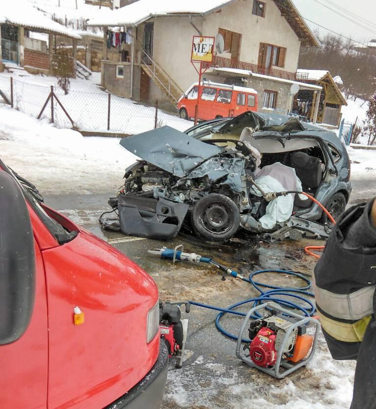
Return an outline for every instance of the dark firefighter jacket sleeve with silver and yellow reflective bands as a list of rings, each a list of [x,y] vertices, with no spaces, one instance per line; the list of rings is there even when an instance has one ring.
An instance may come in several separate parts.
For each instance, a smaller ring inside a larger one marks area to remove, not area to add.
[[[345,248],[342,243],[364,206],[338,220],[315,268],[315,299],[329,350],[336,359],[357,354],[374,314],[376,248]],[[356,357],[356,356],[354,356]]]

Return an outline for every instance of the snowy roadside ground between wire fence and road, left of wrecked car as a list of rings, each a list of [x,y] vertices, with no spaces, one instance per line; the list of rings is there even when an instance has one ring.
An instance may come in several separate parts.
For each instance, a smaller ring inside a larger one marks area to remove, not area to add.
[[[134,155],[119,138],[83,137],[0,107],[0,157],[43,194],[116,191]]]

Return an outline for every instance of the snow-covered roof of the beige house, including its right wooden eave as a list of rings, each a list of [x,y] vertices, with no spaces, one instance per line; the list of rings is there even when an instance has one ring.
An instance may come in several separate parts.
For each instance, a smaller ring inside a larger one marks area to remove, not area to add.
[[[138,26],[158,16],[205,16],[238,1],[241,0],[139,0],[89,20],[88,26]],[[295,31],[302,46],[320,46],[319,40],[305,23],[292,0],[273,1]]]

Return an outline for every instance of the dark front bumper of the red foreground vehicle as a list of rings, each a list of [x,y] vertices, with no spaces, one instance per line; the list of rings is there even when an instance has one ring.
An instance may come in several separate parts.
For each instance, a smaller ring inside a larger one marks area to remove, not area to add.
[[[128,393],[105,409],[160,409],[167,379],[168,351],[161,342],[157,362]]]

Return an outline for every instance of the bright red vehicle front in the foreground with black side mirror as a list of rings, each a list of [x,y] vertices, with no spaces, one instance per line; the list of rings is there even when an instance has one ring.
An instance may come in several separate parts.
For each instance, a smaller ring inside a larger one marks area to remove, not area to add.
[[[158,289],[0,160],[1,409],[159,409]]]

